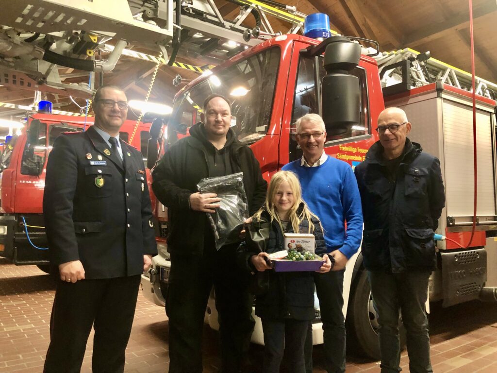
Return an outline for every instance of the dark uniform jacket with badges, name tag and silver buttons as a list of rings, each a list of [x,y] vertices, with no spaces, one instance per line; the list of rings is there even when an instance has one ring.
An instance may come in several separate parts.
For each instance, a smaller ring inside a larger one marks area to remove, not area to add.
[[[86,279],[139,275],[143,255],[157,254],[142,154],[120,144],[124,169],[93,127],[57,137],[48,157],[43,213],[50,262],[81,260]]]

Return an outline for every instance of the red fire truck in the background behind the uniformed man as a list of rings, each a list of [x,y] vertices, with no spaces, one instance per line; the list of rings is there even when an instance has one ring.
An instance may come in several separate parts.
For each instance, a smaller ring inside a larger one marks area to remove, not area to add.
[[[20,135],[13,136],[0,157],[0,256],[16,265],[48,270],[47,239],[42,215],[46,164],[52,144],[62,132],[83,131],[94,118],[36,113]],[[120,137],[128,141],[136,121],[127,120]],[[150,125],[139,123],[131,145],[146,162]]]

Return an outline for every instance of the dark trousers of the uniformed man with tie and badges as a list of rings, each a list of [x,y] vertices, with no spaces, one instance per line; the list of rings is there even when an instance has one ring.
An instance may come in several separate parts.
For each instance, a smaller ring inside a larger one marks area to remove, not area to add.
[[[139,284],[140,275],[75,283],[59,280],[44,372],[80,372],[92,325],[92,371],[124,372]]]

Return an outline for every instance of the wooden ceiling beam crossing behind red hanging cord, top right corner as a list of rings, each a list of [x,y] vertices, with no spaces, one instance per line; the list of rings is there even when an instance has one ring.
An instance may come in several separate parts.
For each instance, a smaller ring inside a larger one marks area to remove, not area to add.
[[[485,0],[482,4],[473,9],[473,20],[483,17],[490,13],[497,14],[496,0]],[[446,18],[447,19],[447,18]],[[413,47],[430,42],[435,39],[446,36],[452,31],[459,31],[469,27],[469,16],[465,11],[463,14],[457,14],[449,17],[445,22],[433,23],[431,27],[425,27],[422,30],[411,33],[402,42],[402,47]]]

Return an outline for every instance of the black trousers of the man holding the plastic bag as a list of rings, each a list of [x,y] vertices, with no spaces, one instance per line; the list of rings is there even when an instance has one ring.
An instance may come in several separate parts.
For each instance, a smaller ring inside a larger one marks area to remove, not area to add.
[[[253,297],[236,264],[235,248],[203,255],[171,256],[166,299],[169,318],[169,373],[202,372],[202,329],[214,285],[221,337],[221,372],[240,372],[246,364],[254,321]]]

